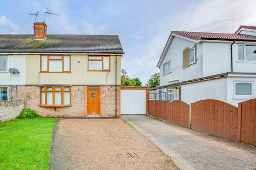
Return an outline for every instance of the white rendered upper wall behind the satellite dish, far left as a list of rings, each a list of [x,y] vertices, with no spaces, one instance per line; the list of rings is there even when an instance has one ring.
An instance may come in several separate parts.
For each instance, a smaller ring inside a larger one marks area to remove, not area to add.
[[[0,72],[1,85],[24,85],[26,80],[26,57],[25,55],[7,55],[7,72]],[[8,70],[15,68],[20,71],[19,74],[10,74]]]

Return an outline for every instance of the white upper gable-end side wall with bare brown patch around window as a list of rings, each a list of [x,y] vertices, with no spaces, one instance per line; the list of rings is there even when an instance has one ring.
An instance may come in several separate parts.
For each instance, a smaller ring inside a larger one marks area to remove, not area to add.
[[[182,66],[183,50],[194,46],[195,43],[189,40],[179,37],[172,39],[171,45],[160,66],[160,86],[203,77],[202,44],[197,44],[196,63],[184,69]],[[171,61],[171,73],[163,75],[163,65],[168,61]],[[179,79],[179,81],[168,82],[175,79]]]

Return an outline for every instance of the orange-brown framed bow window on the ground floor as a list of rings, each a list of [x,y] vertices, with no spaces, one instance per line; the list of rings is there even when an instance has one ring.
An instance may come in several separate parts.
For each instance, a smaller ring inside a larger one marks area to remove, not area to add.
[[[60,92],[59,97],[57,97],[56,92]],[[56,110],[57,107],[70,107],[71,105],[71,87],[69,86],[41,86],[40,87],[40,104],[41,107],[53,107]],[[47,104],[47,94],[49,95],[49,100],[51,100],[51,104]],[[68,100],[64,99],[64,95],[67,95]],[[43,95],[43,96],[42,96]],[[50,99],[51,98],[51,99]],[[55,98],[58,98],[59,104],[55,104]],[[43,100],[42,100],[43,99]],[[67,103],[67,104],[65,104]]]

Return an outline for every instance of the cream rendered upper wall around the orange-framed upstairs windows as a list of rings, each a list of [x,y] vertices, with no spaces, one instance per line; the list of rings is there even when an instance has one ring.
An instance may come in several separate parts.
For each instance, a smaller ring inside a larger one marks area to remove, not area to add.
[[[81,58],[78,63],[77,59]],[[71,73],[39,73],[40,55],[26,55],[26,84],[114,85],[115,55],[110,57],[110,70],[87,71],[87,55],[71,55]],[[121,84],[121,56],[117,56],[117,84]]]

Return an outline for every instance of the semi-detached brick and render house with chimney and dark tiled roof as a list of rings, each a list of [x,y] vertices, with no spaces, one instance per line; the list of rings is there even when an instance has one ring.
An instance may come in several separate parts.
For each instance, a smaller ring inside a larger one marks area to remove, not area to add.
[[[0,100],[43,116],[119,116],[123,54],[117,35],[51,35],[44,22],[34,35],[2,34]]]

